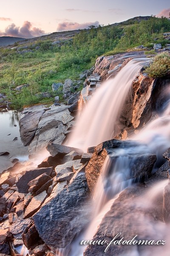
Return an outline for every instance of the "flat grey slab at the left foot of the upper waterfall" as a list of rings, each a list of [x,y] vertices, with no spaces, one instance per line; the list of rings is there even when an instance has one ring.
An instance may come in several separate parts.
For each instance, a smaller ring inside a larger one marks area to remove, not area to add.
[[[59,153],[63,154],[64,156],[66,154],[69,154],[71,151],[75,151],[79,154],[83,153],[83,151],[79,148],[71,148],[65,145],[54,144],[54,143],[48,144],[47,150],[50,152],[52,157],[55,157]]]

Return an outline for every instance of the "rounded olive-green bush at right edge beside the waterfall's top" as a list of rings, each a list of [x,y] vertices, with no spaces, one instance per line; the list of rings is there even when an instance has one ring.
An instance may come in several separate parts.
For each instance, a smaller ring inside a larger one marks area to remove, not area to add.
[[[147,67],[145,72],[150,77],[163,77],[170,73],[170,54],[162,52],[156,55],[150,67]]]

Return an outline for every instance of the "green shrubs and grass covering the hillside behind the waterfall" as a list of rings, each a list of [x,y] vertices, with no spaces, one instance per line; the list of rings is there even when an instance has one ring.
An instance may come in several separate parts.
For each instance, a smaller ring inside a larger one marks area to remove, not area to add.
[[[51,91],[52,83],[79,79],[79,74],[92,67],[103,54],[124,52],[141,44],[151,50],[146,54],[153,54],[153,43],[164,46],[167,40],[163,32],[169,31],[170,20],[151,17],[119,26],[92,26],[88,31],[81,30],[72,40],[60,40],[60,44],[52,44],[49,36],[49,40],[34,44],[27,41],[23,48],[17,44],[14,49],[0,48],[0,92],[6,94],[13,108],[53,102],[53,99],[36,96],[40,92],[59,95],[62,100],[61,90]],[[29,86],[15,90],[21,84]]]

